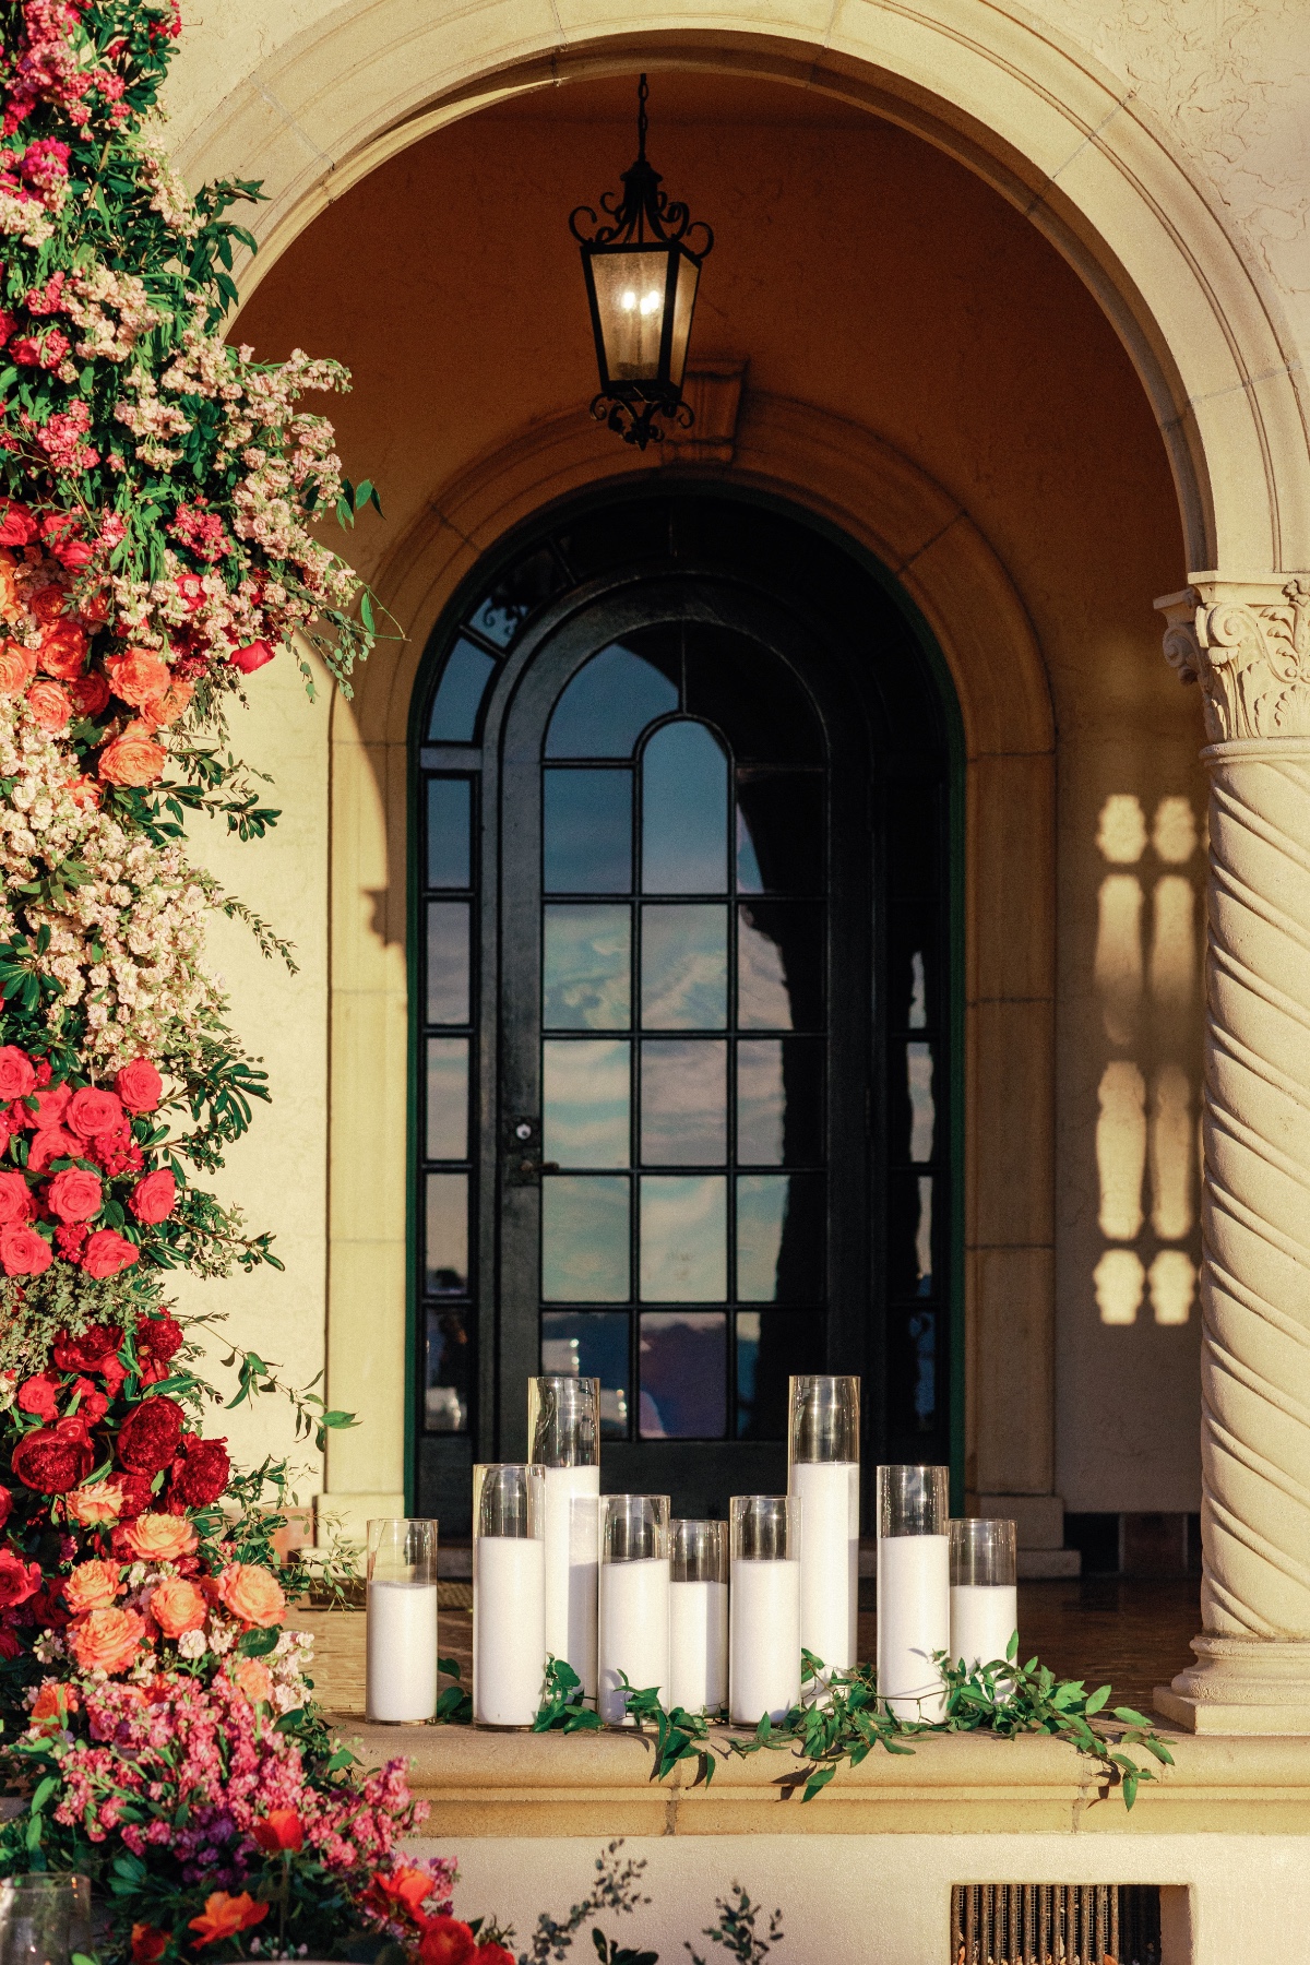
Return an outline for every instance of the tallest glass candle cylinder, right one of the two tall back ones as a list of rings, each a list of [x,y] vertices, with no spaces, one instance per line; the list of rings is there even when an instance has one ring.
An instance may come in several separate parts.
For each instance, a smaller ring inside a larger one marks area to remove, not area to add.
[[[825,1672],[856,1662],[860,1607],[860,1381],[788,1381],[788,1491],[801,1503],[801,1645]]]

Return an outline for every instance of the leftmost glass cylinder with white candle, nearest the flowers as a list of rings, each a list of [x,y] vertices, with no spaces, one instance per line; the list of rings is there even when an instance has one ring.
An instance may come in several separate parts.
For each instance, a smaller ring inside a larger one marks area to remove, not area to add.
[[[365,1713],[383,1725],[436,1712],[436,1521],[367,1525]]]

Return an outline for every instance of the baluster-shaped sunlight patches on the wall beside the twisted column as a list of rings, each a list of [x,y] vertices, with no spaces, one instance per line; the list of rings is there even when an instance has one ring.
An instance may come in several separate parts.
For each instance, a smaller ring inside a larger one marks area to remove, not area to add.
[[[1196,1265],[1198,825],[1190,800],[1161,798],[1151,825],[1131,792],[1100,812],[1102,876],[1096,990],[1110,1057],[1100,1075],[1096,1305],[1104,1324],[1133,1324],[1149,1297],[1157,1324],[1186,1324]],[[1127,869],[1133,869],[1131,872]],[[1149,1199],[1149,1210],[1147,1210]]]

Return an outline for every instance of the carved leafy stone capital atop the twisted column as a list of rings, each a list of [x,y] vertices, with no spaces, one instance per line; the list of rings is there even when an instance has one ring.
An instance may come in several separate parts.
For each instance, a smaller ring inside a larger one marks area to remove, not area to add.
[[[1155,605],[1165,660],[1200,684],[1210,743],[1310,737],[1310,574],[1192,574]]]

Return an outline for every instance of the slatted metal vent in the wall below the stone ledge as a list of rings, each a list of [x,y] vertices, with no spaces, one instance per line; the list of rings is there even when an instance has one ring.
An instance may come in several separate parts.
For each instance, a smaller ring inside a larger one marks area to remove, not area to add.
[[[951,1965],[1161,1965],[1153,1882],[956,1882]]]

